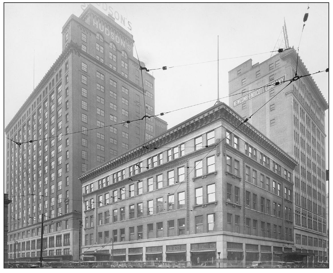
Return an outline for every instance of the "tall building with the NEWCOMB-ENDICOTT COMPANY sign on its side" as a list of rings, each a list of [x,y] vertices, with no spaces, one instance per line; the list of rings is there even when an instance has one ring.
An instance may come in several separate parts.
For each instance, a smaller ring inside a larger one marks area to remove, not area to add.
[[[229,71],[229,105],[249,117],[295,76],[297,53],[278,53],[262,63],[252,59]],[[312,71],[311,71],[312,72]],[[299,58],[298,75],[308,75]],[[280,81],[278,86],[264,87]],[[292,82],[250,120],[262,134],[277,143],[297,161],[294,178],[295,260],[309,265],[327,260],[328,211],[325,178],[325,111],[328,104],[311,76]]]

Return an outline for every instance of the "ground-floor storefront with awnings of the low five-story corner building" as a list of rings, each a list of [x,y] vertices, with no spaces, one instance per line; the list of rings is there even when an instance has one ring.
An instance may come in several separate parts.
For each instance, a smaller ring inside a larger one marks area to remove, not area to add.
[[[187,261],[193,267],[248,267],[253,261],[273,266],[284,261],[284,253],[290,251],[285,247],[290,242],[255,236],[229,234],[209,234],[178,236],[154,240],[138,240],[135,242],[119,242],[112,246],[105,245],[110,260],[128,262]],[[88,249],[90,246],[87,246]],[[94,251],[103,245],[90,247]],[[82,249],[84,253],[85,247]],[[98,251],[98,250],[97,250]],[[218,255],[218,252],[220,252]]]

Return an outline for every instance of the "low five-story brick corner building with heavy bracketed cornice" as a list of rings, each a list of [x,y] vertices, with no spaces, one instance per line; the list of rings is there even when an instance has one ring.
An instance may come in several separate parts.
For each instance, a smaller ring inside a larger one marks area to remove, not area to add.
[[[79,178],[86,258],[245,267],[293,244],[295,160],[225,104]],[[88,256],[88,257],[87,257]]]

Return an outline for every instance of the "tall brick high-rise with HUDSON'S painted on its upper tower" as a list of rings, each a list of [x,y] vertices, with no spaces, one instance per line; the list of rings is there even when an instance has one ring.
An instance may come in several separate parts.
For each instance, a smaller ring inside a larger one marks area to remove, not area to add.
[[[5,129],[10,259],[39,260],[44,215],[43,257],[78,260],[77,177],[143,143],[145,127],[147,140],[167,126],[119,124],[154,115],[155,91],[147,72],[142,86],[132,35],[114,18],[89,5],[62,36],[62,54]]]

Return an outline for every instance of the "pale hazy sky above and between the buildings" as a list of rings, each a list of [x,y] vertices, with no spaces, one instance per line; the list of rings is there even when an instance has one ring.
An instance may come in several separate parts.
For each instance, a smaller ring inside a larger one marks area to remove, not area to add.
[[[71,14],[79,17],[87,5],[4,5],[4,127],[61,54],[61,31],[67,19]],[[148,69],[178,66],[151,72],[155,77],[156,114],[217,98],[217,36],[219,59],[247,56],[219,61],[219,94],[227,96],[228,71],[250,58],[253,64],[268,59],[269,51],[281,38],[284,18],[289,45],[297,48],[300,42],[299,55],[308,71],[328,68],[327,3],[310,3],[309,9],[307,3],[93,5],[105,14],[112,11],[130,21],[139,60]],[[306,12],[309,16],[301,36]],[[206,63],[187,65],[199,62]],[[328,73],[318,73],[313,79],[329,103]],[[228,98],[221,101],[228,105]],[[171,128],[213,104],[175,111],[163,119]],[[328,168],[328,110],[325,114]]]

